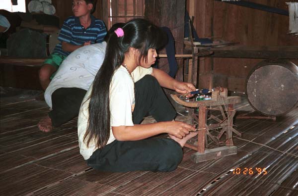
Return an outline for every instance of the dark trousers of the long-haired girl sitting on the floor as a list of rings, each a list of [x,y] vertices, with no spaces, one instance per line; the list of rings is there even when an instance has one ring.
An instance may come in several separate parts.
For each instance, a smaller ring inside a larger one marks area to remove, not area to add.
[[[157,80],[147,75],[135,83],[136,105],[133,121],[139,124],[147,115],[157,121],[173,120],[176,111],[166,98]],[[100,171],[173,171],[182,160],[182,148],[169,138],[139,141],[117,141],[97,149],[87,164]]]

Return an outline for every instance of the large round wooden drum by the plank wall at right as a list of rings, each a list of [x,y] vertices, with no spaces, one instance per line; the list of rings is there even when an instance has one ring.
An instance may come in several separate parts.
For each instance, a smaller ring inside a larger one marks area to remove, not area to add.
[[[246,80],[250,105],[265,115],[279,116],[298,106],[298,66],[288,60],[258,63]]]

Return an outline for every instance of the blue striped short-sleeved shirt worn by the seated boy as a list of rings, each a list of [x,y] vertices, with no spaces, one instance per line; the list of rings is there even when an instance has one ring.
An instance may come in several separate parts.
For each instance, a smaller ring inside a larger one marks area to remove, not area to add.
[[[72,45],[83,45],[85,42],[91,41],[91,44],[101,43],[107,34],[107,30],[102,20],[96,19],[90,15],[91,24],[85,29],[79,22],[79,18],[71,16],[67,18],[61,28],[58,40],[61,41],[53,52],[58,52],[68,56],[71,52],[62,49],[62,42],[67,42]]]

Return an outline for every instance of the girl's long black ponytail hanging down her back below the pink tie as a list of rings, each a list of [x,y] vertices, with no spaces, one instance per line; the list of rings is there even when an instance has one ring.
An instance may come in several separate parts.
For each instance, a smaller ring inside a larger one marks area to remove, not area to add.
[[[96,147],[104,147],[110,137],[110,83],[115,70],[124,60],[116,34],[110,36],[105,58],[93,81],[89,102],[89,119],[84,141],[87,146],[91,140]]]

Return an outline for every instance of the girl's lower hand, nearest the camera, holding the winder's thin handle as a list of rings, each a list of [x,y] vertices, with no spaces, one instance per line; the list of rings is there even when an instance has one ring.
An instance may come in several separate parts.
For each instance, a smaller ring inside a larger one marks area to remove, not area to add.
[[[166,122],[165,132],[175,136],[176,138],[182,139],[187,134],[189,134],[190,131],[195,131],[196,128],[192,125],[189,125],[187,123],[181,122],[181,121],[169,121]]]

